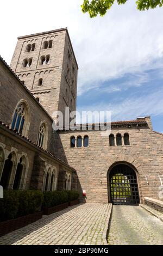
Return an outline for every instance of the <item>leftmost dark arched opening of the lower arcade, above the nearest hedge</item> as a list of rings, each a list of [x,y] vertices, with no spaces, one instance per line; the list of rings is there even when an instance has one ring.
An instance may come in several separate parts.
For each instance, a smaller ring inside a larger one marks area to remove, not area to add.
[[[5,160],[1,181],[0,181],[0,185],[3,186],[4,189],[8,188],[13,165],[14,164],[12,162],[12,154],[10,153],[8,156],[8,159]]]

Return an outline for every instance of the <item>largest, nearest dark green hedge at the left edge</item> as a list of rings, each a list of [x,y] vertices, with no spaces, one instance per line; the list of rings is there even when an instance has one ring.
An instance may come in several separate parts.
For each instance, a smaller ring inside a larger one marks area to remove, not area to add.
[[[4,190],[0,200],[0,222],[34,214],[41,210],[43,194],[40,191]]]

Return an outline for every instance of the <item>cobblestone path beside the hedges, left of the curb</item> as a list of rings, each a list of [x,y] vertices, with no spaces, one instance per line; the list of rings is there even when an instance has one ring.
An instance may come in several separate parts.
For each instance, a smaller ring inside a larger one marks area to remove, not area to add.
[[[0,237],[0,245],[107,245],[111,205],[80,204]]]

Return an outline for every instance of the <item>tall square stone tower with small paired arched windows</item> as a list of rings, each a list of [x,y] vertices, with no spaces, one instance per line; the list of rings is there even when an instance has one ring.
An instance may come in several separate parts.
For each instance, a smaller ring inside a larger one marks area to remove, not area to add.
[[[49,115],[76,111],[78,64],[67,28],[18,37],[10,66]]]

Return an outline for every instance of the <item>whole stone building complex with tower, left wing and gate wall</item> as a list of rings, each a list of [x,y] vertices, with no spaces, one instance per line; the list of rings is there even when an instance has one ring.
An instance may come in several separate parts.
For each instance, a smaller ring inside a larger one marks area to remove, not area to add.
[[[159,198],[163,134],[150,117],[112,122],[107,137],[95,124],[53,131],[55,111],[76,110],[77,73],[66,28],[19,37],[11,68],[0,59],[0,184],[78,190],[92,203]]]

